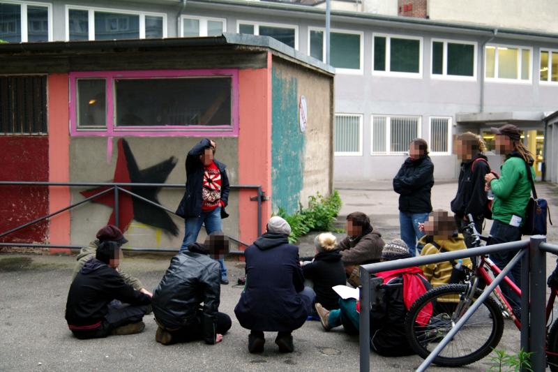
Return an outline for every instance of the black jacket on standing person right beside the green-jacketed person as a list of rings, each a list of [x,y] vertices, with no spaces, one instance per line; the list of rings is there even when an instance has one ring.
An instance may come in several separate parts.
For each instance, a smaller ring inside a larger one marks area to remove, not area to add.
[[[476,158],[461,163],[458,193],[451,200],[451,211],[459,218],[469,213],[474,217],[484,214],[487,202],[484,177],[490,172],[490,166],[485,161],[476,161],[478,158],[486,160],[486,156],[479,154]],[[472,167],[474,161],[476,162]]]

